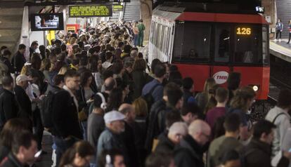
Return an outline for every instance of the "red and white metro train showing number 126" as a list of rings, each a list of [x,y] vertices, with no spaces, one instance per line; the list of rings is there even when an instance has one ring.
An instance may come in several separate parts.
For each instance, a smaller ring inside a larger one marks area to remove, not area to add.
[[[233,4],[175,3],[153,11],[148,62],[158,58],[189,76],[195,91],[214,77],[226,86],[228,74],[240,72],[241,86],[252,86],[257,100],[269,93],[269,23],[255,10]]]

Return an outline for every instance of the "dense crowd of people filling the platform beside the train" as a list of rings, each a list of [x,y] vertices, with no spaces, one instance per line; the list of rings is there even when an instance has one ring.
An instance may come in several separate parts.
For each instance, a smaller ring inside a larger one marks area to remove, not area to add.
[[[194,94],[195,81],[175,65],[148,67],[135,47],[141,22],[33,41],[27,57],[24,44],[12,59],[1,47],[0,166],[33,166],[46,154],[44,131],[52,166],[291,166],[289,90],[252,122],[256,92],[240,86],[240,73],[227,88],[209,78]]]

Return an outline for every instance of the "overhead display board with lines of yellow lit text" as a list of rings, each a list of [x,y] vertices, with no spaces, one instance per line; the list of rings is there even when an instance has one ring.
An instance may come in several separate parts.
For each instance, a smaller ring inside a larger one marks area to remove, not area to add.
[[[70,18],[108,17],[112,16],[112,6],[69,6]]]

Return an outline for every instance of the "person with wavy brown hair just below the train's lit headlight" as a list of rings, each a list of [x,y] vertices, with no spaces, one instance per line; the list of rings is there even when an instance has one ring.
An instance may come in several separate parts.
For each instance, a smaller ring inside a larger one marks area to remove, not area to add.
[[[240,127],[240,140],[243,141],[249,139],[251,135],[252,123],[250,123],[247,114],[255,98],[256,93],[250,86],[240,88],[235,91],[235,96],[231,100],[231,107],[228,109],[228,113],[235,113],[240,116],[243,124]]]

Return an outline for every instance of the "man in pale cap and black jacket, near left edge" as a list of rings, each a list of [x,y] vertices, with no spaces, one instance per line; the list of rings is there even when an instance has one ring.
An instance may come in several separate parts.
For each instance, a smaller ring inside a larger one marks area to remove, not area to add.
[[[16,101],[18,102],[19,112],[18,117],[27,120],[27,123],[32,123],[32,102],[25,93],[28,86],[28,81],[31,81],[26,75],[18,75],[16,77],[16,86],[14,88]],[[31,124],[32,126],[32,124]]]

